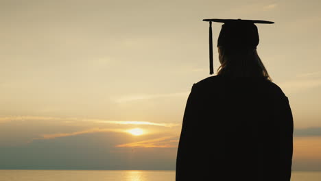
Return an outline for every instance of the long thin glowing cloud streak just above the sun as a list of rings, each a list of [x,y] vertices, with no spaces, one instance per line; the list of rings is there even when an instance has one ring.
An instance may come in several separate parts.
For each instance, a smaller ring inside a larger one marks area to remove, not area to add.
[[[75,121],[89,121],[93,123],[108,123],[108,124],[119,124],[119,125],[155,125],[161,127],[174,127],[179,126],[177,123],[154,123],[149,121],[115,121],[107,119],[80,119],[75,117],[32,117],[32,116],[23,116],[23,117],[0,117],[0,123],[8,121],[62,121],[63,123],[73,123]]]

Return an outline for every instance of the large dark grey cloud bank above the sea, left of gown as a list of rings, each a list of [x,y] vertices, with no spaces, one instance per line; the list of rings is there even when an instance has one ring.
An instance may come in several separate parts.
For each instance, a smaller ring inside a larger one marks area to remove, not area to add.
[[[0,169],[175,169],[176,148],[115,147],[132,139],[121,132],[95,132],[0,146]]]

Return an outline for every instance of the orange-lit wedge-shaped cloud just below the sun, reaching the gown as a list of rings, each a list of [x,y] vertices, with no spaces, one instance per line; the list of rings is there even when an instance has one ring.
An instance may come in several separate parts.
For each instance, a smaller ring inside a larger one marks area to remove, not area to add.
[[[162,138],[150,139],[145,141],[138,141],[134,143],[125,143],[117,145],[116,147],[158,147],[158,148],[168,148],[168,147],[177,147],[178,138],[173,136],[166,136]]]

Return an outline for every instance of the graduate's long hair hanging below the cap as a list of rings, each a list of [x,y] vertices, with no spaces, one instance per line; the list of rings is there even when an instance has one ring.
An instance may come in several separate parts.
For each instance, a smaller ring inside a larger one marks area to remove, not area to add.
[[[217,47],[221,66],[217,69],[217,75],[228,77],[263,77],[272,81],[265,69],[257,49],[240,48],[228,49]]]

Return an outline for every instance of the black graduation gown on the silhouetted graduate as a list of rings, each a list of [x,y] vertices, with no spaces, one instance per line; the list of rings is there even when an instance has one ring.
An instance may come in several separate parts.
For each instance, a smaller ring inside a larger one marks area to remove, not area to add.
[[[292,152],[292,111],[276,84],[219,75],[193,84],[176,181],[289,181]]]

